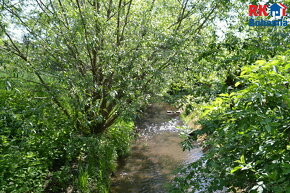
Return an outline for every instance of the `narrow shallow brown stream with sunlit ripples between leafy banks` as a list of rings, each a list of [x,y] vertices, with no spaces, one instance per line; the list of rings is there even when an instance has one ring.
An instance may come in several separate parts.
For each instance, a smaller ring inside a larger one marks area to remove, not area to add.
[[[139,137],[113,177],[111,193],[165,193],[174,170],[201,157],[200,148],[182,151],[179,133],[183,123],[178,113],[167,111],[176,109],[153,104],[137,121]]]

